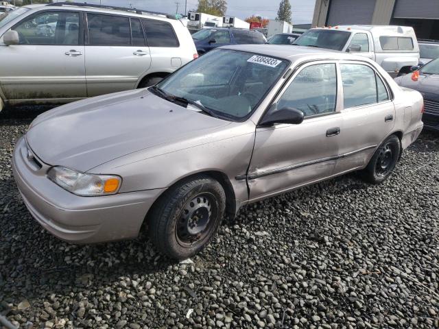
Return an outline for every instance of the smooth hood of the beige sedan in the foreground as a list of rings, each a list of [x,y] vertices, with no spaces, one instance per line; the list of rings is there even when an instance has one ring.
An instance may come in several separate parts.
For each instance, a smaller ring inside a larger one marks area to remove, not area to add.
[[[135,151],[209,134],[230,122],[183,108],[145,89],[70,103],[40,114],[26,133],[50,165],[88,171]]]

